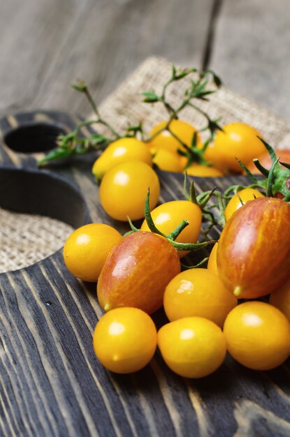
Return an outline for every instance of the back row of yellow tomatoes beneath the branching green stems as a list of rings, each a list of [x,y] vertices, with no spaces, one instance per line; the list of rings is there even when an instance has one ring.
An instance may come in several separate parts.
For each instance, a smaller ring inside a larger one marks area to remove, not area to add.
[[[173,119],[169,124],[161,121],[152,128],[147,142],[136,138],[122,138],[117,140],[103,152],[93,167],[94,175],[101,179],[115,164],[124,161],[138,160],[152,165],[156,164],[161,170],[183,172],[187,165],[187,158],[178,153],[186,152],[184,145],[191,147],[192,138],[196,135],[196,147],[202,148],[201,136],[196,128],[186,121]],[[164,130],[162,130],[164,129]],[[187,168],[187,173],[193,176],[223,176],[225,173],[240,173],[242,169],[236,158],[247,165],[253,158],[264,154],[265,148],[259,140],[261,133],[252,126],[236,122],[223,126],[218,131],[213,142],[205,151],[205,159],[210,166],[193,163]],[[251,147],[248,147],[249,143]]]

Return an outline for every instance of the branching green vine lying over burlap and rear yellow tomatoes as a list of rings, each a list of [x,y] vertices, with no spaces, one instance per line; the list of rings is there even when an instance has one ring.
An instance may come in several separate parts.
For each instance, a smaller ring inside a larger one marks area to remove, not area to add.
[[[168,102],[168,87],[175,82],[182,82],[185,77],[190,77],[190,85],[189,87],[187,86],[184,88],[184,99],[175,108],[171,103]],[[143,95],[143,103],[162,103],[168,112],[168,120],[166,121],[166,124],[159,131],[150,137],[145,138],[142,124],[128,126],[123,135],[118,133],[115,128],[101,116],[87,84],[83,80],[78,80],[77,84],[72,84],[71,87],[85,95],[89,105],[92,108],[94,117],[92,119],[81,121],[80,124],[78,124],[78,126],[71,131],[71,133],[68,133],[67,135],[59,135],[57,138],[57,148],[50,151],[44,158],[38,161],[38,166],[43,166],[51,161],[56,161],[61,158],[73,156],[75,154],[79,155],[86,154],[90,151],[102,151],[106,149],[111,142],[118,140],[119,138],[131,138],[136,137],[136,135],[140,135],[140,138],[143,141],[150,142],[162,131],[168,131],[178,142],[180,142],[182,149],[180,149],[178,152],[187,157],[187,167],[194,162],[201,163],[203,165],[211,165],[204,158],[204,153],[212,141],[215,131],[222,130],[222,128],[218,124],[218,119],[211,119],[208,114],[201,110],[201,108],[198,108],[194,102],[196,100],[208,101],[208,96],[215,93],[215,91],[217,91],[221,85],[221,80],[211,70],[197,71],[196,68],[175,68],[175,66],[172,66],[171,77],[164,84],[161,94],[157,94],[155,91],[143,91],[141,93]],[[209,87],[211,87],[211,89],[209,89]],[[173,119],[178,119],[180,112],[187,107],[199,112],[205,119],[205,126],[200,129],[200,132],[208,131],[209,135],[208,139],[203,143],[203,147],[197,147],[196,145],[197,133],[193,135],[191,146],[189,147],[182,142],[182,140],[180,140],[180,138],[178,138],[171,129],[171,121],[173,121]],[[105,126],[110,135],[106,136],[97,132],[90,133],[90,135],[87,137],[82,135],[82,128],[93,125],[96,126],[98,124]]]

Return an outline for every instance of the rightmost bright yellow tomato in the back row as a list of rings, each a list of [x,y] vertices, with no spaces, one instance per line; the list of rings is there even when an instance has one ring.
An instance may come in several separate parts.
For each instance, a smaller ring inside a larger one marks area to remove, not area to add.
[[[216,154],[224,161],[226,168],[241,173],[242,167],[235,158],[246,164],[265,151],[258,136],[261,137],[261,133],[245,123],[227,124],[215,136]]]

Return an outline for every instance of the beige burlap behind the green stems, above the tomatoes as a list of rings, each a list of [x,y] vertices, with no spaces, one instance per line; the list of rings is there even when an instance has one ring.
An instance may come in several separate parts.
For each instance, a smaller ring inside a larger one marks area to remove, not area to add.
[[[145,131],[149,131],[154,124],[167,119],[168,113],[161,103],[154,103],[154,105],[141,103],[143,96],[140,92],[154,90],[159,93],[170,76],[171,63],[166,59],[157,57],[147,59],[101,103],[100,111],[103,118],[120,131],[129,123],[136,124],[139,121],[143,122]],[[174,104],[182,101],[184,87],[186,82],[185,84],[184,81],[175,82],[168,88],[168,99]],[[222,124],[243,121],[258,129],[273,147],[290,147],[290,124],[229,89],[222,87],[210,96],[209,102],[199,101],[195,104],[213,119],[221,117]],[[185,108],[180,112],[180,118],[189,121],[197,128],[205,126],[203,116],[192,108]]]

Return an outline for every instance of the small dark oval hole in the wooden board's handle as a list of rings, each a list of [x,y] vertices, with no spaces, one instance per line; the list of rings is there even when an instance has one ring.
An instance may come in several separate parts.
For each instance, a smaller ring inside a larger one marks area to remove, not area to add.
[[[22,154],[45,152],[57,147],[57,137],[66,132],[59,126],[34,122],[18,126],[4,135],[9,149]]]

